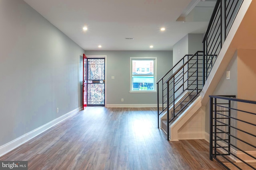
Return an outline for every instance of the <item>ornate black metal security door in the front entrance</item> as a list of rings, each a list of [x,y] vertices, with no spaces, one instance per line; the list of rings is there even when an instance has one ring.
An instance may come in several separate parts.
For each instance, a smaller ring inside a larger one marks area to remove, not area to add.
[[[105,59],[87,59],[87,106],[105,106]]]

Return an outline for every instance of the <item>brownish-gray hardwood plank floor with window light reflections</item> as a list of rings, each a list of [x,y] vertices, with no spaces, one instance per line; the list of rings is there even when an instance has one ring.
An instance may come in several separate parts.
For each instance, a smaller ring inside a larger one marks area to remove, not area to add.
[[[29,170],[206,170],[204,140],[168,142],[156,108],[87,107],[0,157],[27,160]]]

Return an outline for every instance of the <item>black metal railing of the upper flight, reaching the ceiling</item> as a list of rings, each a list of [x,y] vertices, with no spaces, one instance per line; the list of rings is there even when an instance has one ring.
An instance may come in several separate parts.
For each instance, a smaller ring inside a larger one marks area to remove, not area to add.
[[[217,0],[204,36],[204,81],[210,74],[220,49],[243,0]]]

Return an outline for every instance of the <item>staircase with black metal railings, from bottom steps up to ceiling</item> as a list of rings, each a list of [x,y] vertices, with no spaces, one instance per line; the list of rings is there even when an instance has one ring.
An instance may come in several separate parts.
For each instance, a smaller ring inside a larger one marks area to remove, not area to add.
[[[185,55],[157,82],[158,128],[167,133],[167,140],[169,127],[200,96],[242,2],[217,0],[204,36],[204,51]]]

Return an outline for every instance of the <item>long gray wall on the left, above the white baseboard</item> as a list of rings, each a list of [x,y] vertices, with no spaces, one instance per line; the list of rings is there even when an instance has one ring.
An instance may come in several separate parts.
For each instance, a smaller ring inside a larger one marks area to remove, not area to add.
[[[22,0],[0,0],[0,23],[1,146],[82,106],[84,50]]]

